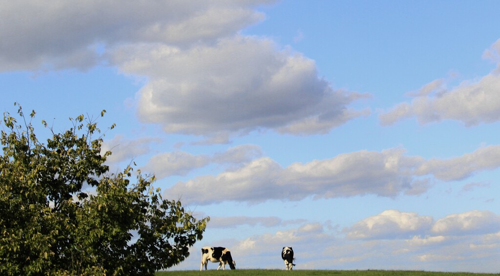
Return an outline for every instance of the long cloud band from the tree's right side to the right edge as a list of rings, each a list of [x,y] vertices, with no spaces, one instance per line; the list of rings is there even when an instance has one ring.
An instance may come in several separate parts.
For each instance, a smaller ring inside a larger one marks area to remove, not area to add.
[[[500,145],[485,146],[448,159],[425,160],[404,153],[402,148],[362,150],[287,167],[269,157],[260,157],[237,169],[177,182],[165,189],[164,195],[181,197],[186,204],[202,205],[222,201],[300,200],[308,196],[335,198],[375,194],[395,197],[401,193],[425,192],[429,179],[461,180],[500,166]],[[213,186],[222,188],[215,190]]]

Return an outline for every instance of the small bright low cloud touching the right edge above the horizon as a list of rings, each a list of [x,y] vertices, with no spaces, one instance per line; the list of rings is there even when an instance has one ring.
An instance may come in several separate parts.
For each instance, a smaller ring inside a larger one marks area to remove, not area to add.
[[[484,234],[499,230],[500,215],[479,210],[447,215],[438,219],[431,228],[433,233],[447,235]]]

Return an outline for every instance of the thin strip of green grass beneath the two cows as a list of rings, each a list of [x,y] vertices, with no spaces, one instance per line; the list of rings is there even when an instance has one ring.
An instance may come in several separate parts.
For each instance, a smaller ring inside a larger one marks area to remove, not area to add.
[[[159,271],[156,276],[323,276],[323,275],[343,275],[343,276],[486,276],[498,275],[490,273],[469,273],[469,272],[429,272],[429,271],[404,271],[404,270],[278,270],[278,269],[236,269],[236,270],[183,270],[183,271]]]

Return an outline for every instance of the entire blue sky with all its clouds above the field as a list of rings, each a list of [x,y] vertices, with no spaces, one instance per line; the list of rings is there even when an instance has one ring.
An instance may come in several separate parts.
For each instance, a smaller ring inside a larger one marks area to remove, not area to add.
[[[209,216],[171,269],[198,269],[202,246],[284,269],[291,246],[294,269],[497,273],[498,10],[1,0],[1,109],[34,109],[39,135],[96,118],[110,172],[134,162]]]

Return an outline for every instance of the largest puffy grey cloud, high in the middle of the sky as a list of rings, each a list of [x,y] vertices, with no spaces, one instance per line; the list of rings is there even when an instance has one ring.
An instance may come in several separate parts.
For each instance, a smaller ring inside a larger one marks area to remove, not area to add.
[[[186,50],[119,47],[111,60],[126,73],[148,76],[138,93],[138,116],[166,132],[325,133],[369,113],[347,107],[367,95],[332,89],[313,60],[277,47],[269,39],[236,35]]]

